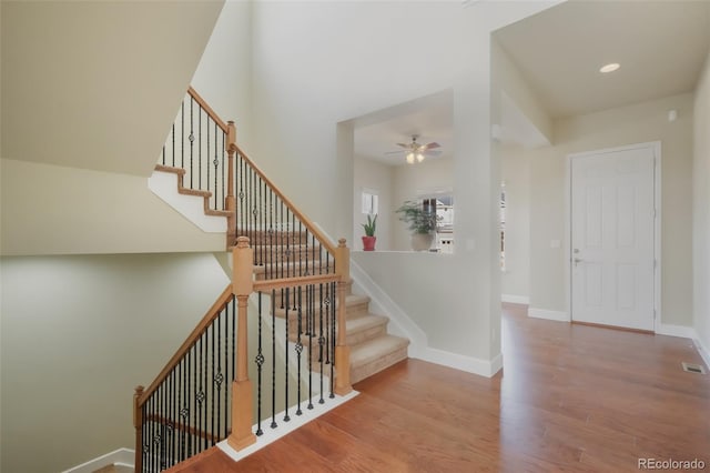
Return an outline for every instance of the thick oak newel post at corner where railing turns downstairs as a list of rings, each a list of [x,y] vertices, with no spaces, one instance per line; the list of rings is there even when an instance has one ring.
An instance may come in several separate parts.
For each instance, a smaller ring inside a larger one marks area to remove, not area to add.
[[[236,379],[232,382],[232,433],[227,443],[234,450],[242,450],[254,442],[256,435],[252,432],[253,402],[252,382],[248,379],[247,365],[247,326],[246,312],[248,295],[254,290],[254,250],[248,246],[248,239],[240,236],[232,250],[232,292],[236,296]]]

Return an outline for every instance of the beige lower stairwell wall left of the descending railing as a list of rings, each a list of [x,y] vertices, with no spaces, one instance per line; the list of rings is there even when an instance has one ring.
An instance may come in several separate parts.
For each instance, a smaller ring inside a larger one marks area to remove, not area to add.
[[[132,395],[227,284],[209,253],[0,260],[3,472],[133,447]]]

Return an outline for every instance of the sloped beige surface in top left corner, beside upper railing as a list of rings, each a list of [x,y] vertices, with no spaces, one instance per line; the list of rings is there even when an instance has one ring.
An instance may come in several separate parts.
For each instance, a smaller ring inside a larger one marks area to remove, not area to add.
[[[0,158],[149,177],[224,1],[3,1]]]

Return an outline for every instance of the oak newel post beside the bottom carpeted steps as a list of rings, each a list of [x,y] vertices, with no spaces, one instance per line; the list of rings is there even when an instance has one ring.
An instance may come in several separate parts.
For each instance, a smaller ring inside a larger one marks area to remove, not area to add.
[[[345,395],[353,391],[351,385],[351,348],[347,346],[345,319],[347,308],[345,298],[351,281],[351,250],[344,238],[337,242],[335,254],[335,272],[339,275],[337,283],[337,340],[335,345],[335,394]]]

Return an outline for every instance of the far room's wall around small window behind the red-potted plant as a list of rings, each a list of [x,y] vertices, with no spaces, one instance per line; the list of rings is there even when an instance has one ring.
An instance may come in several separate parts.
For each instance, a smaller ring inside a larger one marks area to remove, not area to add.
[[[377,251],[392,250],[392,213],[395,204],[392,200],[392,177],[394,168],[371,159],[357,157],[353,160],[353,240],[352,249],[362,250],[365,234],[362,223],[367,222],[363,214],[362,192],[364,189],[376,190],[379,202],[375,236]]]

